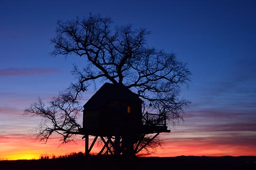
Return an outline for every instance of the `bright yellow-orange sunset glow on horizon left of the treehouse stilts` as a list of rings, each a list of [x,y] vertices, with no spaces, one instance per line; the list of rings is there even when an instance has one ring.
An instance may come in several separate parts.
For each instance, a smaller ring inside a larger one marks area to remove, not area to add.
[[[46,144],[42,144],[26,135],[0,138],[0,161],[40,159],[41,156],[52,158],[74,152],[84,152],[83,140],[78,139],[75,144],[60,145],[60,143],[59,138],[51,138]]]

